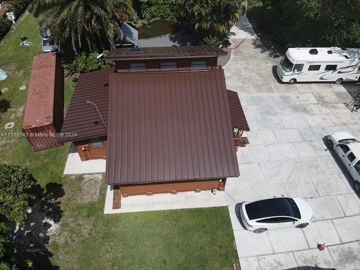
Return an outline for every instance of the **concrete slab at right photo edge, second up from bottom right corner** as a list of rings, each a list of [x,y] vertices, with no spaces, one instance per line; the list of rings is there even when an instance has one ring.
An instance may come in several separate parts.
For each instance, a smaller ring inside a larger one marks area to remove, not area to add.
[[[342,242],[360,240],[359,215],[333,219],[332,222],[334,223]]]

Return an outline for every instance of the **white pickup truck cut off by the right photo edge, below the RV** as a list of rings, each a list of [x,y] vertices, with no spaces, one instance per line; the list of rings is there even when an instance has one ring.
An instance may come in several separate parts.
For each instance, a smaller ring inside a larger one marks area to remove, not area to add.
[[[354,188],[360,192],[360,141],[346,131],[328,135],[327,146],[333,149],[337,158],[354,179]]]

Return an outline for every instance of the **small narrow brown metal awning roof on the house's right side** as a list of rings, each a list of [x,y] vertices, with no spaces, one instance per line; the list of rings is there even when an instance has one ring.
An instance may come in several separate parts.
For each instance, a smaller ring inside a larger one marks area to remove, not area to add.
[[[243,112],[237,92],[227,90],[227,97],[230,107],[231,125],[232,127],[249,131],[250,128],[247,124],[245,114]]]

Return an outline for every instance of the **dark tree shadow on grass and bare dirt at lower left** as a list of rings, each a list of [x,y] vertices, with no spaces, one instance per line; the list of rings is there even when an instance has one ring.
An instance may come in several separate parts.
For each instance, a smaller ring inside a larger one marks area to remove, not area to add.
[[[36,199],[26,223],[21,227],[10,224],[12,244],[19,256],[33,261],[35,269],[59,269],[51,263],[52,253],[46,245],[58,229],[62,217],[61,202],[58,200],[64,195],[62,184],[50,182],[45,189],[37,184],[31,192]]]

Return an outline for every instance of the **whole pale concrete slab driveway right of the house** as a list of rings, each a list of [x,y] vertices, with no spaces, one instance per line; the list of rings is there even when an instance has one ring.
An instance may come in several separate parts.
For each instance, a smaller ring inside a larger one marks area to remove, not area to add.
[[[227,88],[238,92],[250,131],[239,148],[240,176],[226,183],[241,270],[312,266],[360,268],[360,199],[324,137],[347,130],[360,138],[360,113],[344,103],[354,83],[279,83],[279,58],[254,34],[246,17],[231,29],[237,44],[224,66]],[[283,228],[255,234],[238,216],[242,201],[273,196],[305,198],[314,221],[304,229]],[[324,250],[316,248],[325,243]],[[302,269],[302,267],[301,267]]]

